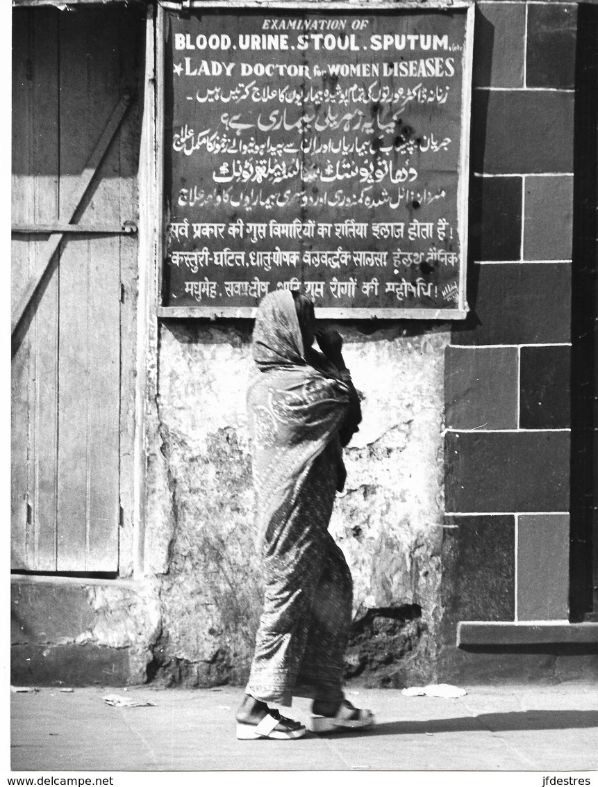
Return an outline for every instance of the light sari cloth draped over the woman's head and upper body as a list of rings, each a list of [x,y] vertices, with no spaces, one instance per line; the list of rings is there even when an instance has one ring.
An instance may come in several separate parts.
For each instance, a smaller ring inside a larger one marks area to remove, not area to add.
[[[331,443],[342,464],[338,430],[350,397],[323,356],[325,368],[306,361],[289,290],[276,290],[259,305],[252,353],[256,371],[248,386],[248,416],[255,526],[263,545],[270,523],[292,510],[315,458]]]

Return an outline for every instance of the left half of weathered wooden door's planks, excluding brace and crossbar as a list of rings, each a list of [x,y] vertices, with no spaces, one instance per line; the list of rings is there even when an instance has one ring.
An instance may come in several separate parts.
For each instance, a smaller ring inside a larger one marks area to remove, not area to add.
[[[56,10],[15,13],[13,35],[13,220],[51,221],[57,216],[58,190]],[[38,271],[43,247],[43,238],[13,241],[13,297],[20,296],[19,286]],[[35,316],[13,358],[12,563],[16,569],[56,567],[56,391],[54,269],[37,296]],[[18,532],[23,523],[24,538]]]

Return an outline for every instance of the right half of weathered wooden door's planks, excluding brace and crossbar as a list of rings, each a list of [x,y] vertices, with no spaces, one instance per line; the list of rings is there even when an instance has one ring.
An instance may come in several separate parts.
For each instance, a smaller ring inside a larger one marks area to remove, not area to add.
[[[61,50],[61,212],[76,192],[89,141],[105,124],[120,89],[119,53],[106,30],[110,15],[97,13],[86,13],[85,24],[68,14],[61,20],[61,35],[69,42],[68,50]],[[105,35],[98,37],[100,20]],[[77,220],[119,219],[119,150],[114,145]],[[69,239],[61,260],[62,571],[81,570],[82,564],[85,571],[118,568],[119,297],[118,238]],[[67,419],[68,412],[75,417]]]

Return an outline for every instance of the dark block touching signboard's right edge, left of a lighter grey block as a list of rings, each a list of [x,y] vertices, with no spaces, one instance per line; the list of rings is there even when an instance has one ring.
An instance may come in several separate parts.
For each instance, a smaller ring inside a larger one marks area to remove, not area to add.
[[[520,260],[522,178],[473,177],[469,194],[469,256]]]

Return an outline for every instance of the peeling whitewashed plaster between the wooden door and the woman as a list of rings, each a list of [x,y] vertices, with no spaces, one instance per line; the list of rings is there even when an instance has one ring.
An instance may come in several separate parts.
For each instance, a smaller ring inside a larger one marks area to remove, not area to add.
[[[189,685],[237,679],[259,615],[244,409],[249,341],[246,331],[206,323],[165,324],[160,334],[162,460],[150,497],[158,509],[150,508],[148,527],[155,545],[165,546],[161,530],[169,543],[153,668]],[[164,489],[168,512],[160,506]],[[150,563],[161,558],[147,555]]]

